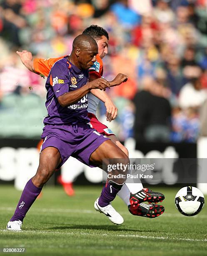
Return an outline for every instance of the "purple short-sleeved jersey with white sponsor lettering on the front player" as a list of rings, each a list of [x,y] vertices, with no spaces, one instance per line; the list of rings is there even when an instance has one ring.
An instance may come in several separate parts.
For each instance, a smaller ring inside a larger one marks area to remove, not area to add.
[[[59,96],[77,90],[88,82],[89,71],[80,70],[68,61],[67,57],[56,61],[47,77],[45,106],[48,115],[43,120],[44,125],[89,123],[90,121],[87,117],[87,95],[67,107],[62,107],[57,100]]]

